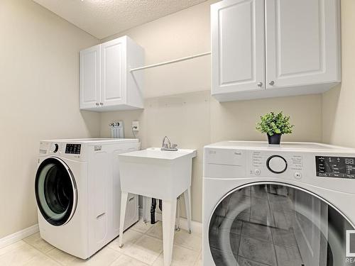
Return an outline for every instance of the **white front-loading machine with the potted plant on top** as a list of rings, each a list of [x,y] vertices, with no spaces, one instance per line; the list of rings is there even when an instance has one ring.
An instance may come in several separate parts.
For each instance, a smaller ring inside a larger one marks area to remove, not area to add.
[[[355,265],[355,149],[204,147],[204,266]]]

